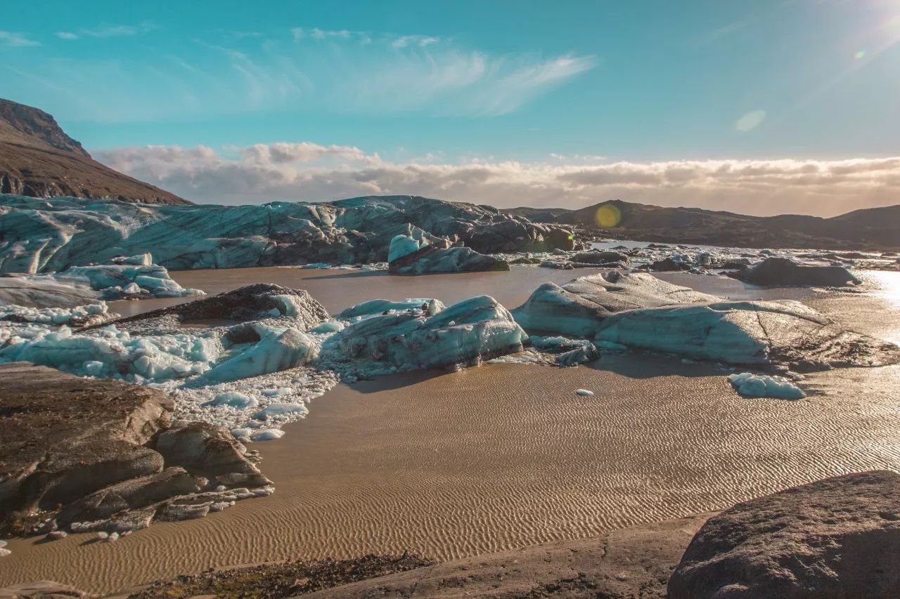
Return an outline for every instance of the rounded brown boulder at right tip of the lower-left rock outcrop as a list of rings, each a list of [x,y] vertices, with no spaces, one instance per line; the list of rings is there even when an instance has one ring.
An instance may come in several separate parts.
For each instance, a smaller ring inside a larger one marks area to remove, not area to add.
[[[219,426],[177,422],[158,434],[153,448],[166,466],[181,466],[223,485],[263,487],[272,482],[247,460],[246,449],[229,430]]]

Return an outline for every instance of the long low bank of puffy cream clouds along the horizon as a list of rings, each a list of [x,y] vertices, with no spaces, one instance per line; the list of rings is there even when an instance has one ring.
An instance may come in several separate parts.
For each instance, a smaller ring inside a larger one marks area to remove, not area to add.
[[[540,162],[436,156],[392,161],[352,146],[309,142],[246,148],[119,148],[104,163],[194,201],[322,201],[411,193],[500,207],[581,208],[620,198],[747,214],[831,216],[896,204],[900,156],[845,160],[607,162],[548,156]]]

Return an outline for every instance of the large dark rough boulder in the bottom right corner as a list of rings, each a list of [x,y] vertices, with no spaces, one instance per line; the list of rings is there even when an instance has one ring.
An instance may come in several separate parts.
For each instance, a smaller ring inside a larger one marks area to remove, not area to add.
[[[738,504],[703,525],[670,599],[900,596],[900,476],[826,478]]]

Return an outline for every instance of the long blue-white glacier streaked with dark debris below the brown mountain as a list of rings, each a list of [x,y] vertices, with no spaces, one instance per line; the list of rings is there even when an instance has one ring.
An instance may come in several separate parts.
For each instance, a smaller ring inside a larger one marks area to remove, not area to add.
[[[167,206],[0,195],[0,273],[46,273],[152,252],[170,269],[385,262],[393,237],[482,254],[572,249],[572,231],[417,196]]]

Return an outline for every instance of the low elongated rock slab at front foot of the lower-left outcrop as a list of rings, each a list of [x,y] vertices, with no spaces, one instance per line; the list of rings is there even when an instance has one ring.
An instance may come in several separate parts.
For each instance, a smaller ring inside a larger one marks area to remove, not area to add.
[[[166,499],[197,493],[206,486],[206,480],[188,474],[183,468],[166,468],[157,474],[130,478],[103,487],[63,508],[58,523],[67,526],[73,522],[108,520],[139,507],[155,505]]]

